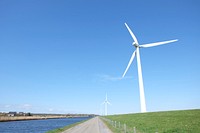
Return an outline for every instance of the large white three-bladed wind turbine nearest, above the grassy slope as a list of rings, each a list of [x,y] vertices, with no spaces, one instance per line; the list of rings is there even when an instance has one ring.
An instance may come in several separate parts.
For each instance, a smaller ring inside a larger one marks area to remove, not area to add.
[[[148,48],[148,47],[153,47],[153,46],[158,46],[158,45],[163,45],[163,44],[167,44],[167,43],[171,43],[171,42],[175,42],[178,41],[176,40],[170,40],[170,41],[164,41],[164,42],[156,42],[156,43],[150,43],[150,44],[144,44],[144,45],[139,45],[135,35],[133,34],[133,32],[131,31],[131,29],[128,27],[128,25],[125,23],[126,28],[128,29],[129,33],[131,34],[134,42],[133,42],[133,46],[135,46],[136,50],[133,52],[131,59],[128,63],[128,66],[126,67],[126,70],[123,74],[122,77],[125,76],[127,70],[129,69],[135,55],[137,58],[137,66],[138,66],[138,80],[139,80],[139,88],[140,88],[140,106],[141,106],[141,112],[146,112],[146,103],[145,103],[145,95],[144,95],[144,85],[143,85],[143,79],[142,79],[142,68],[141,68],[141,62],[140,62],[140,48]]]

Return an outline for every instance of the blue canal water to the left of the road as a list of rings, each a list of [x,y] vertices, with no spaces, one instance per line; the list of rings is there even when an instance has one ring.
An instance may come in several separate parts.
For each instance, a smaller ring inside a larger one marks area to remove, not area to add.
[[[89,117],[0,122],[0,133],[45,133]]]

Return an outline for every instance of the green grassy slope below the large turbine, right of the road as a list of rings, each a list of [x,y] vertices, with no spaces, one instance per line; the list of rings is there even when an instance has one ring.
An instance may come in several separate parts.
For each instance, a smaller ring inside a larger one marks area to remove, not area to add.
[[[125,123],[131,129],[129,132],[133,132],[135,127],[137,133],[200,133],[199,109],[112,115],[105,118],[120,122],[121,125]],[[123,129],[113,130],[121,133]]]

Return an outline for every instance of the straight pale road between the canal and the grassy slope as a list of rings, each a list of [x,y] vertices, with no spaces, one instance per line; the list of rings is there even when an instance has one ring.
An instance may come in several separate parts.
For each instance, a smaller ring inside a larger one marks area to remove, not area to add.
[[[63,133],[112,133],[99,117],[92,118]]]

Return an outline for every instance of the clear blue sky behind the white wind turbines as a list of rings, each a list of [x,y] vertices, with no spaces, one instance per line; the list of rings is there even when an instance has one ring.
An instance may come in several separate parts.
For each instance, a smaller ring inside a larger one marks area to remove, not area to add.
[[[198,0],[1,0],[0,111],[140,112],[136,60],[124,23],[140,44],[147,111],[200,108]]]

